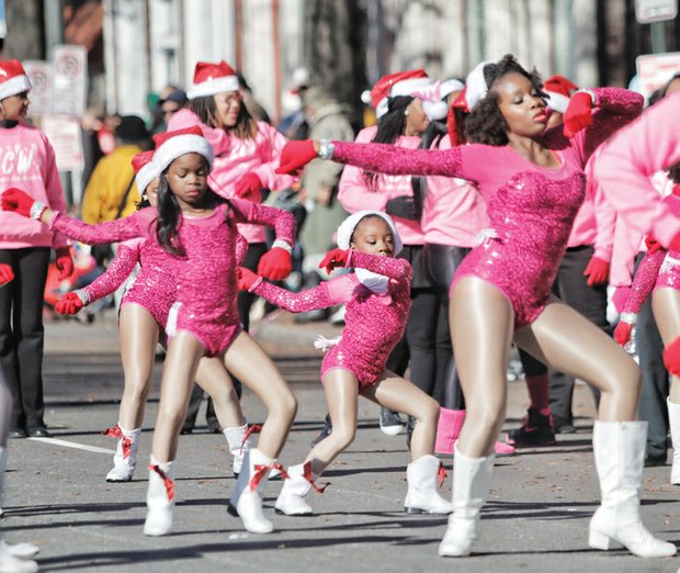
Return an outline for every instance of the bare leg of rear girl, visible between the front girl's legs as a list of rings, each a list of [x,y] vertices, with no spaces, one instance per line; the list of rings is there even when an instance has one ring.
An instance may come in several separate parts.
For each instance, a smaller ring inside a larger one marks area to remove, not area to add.
[[[196,382],[213,398],[215,414],[223,428],[246,424],[234,383],[222,359],[203,358],[199,362]]]

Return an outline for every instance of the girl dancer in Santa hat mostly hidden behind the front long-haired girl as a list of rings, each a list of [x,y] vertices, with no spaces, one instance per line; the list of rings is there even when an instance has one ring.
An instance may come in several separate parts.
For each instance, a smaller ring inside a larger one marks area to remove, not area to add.
[[[133,157],[132,161],[137,189],[140,190],[143,198],[140,207],[157,206],[160,181],[159,173],[151,162],[152,157],[152,151],[144,151]],[[246,239],[241,238],[237,244],[237,261],[243,259],[247,248]],[[125,385],[118,423],[104,432],[106,436],[117,438],[113,468],[106,474],[107,482],[127,482],[132,480],[135,471],[140,426],[152,381],[156,345],[165,341],[168,313],[177,300],[172,259],[152,240],[144,238],[126,240],[118,246],[106,272],[84,289],[67,293],[55,306],[60,314],[76,314],[84,305],[115,292],[137,263],[140,263],[141,271],[134,283],[126,289],[121,301],[118,330]],[[248,426],[231,380],[224,364],[216,358],[201,360],[196,380],[211,396],[214,396],[217,417],[225,428],[224,435],[234,456],[234,473],[238,475],[242,453],[250,448],[250,439],[245,437]]]

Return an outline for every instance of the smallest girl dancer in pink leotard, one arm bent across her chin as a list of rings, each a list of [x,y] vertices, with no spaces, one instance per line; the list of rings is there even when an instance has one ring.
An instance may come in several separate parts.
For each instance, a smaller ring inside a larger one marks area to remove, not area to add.
[[[432,456],[439,405],[418,386],[386,370],[389,352],[404,334],[410,308],[411,266],[394,258],[401,239],[385,213],[359,211],[338,228],[338,246],[321,268],[354,268],[356,272],[322,282],[316,289],[292,293],[239,269],[239,285],[291,312],[306,312],[345,303],[342,337],[324,358],[321,381],[333,430],[319,441],[299,465],[288,468],[288,480],[275,507],[286,515],[307,515],[304,496],[314,480],[354,439],[356,398],[361,394],[378,405],[416,418],[411,438],[412,463],[407,470],[408,513],[451,513],[451,504],[437,492],[439,460]]]

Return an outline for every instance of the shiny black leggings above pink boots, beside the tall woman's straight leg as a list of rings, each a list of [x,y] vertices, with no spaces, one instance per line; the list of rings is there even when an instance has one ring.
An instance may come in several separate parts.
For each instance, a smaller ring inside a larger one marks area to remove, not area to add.
[[[451,346],[449,290],[451,289],[451,282],[456,269],[468,252],[468,248],[449,245],[428,244],[424,246],[426,269],[435,292],[441,299],[437,334],[437,381],[434,395],[440,397],[439,403],[449,409],[465,409],[465,398],[463,397],[461,380],[455,368],[455,359]]]

